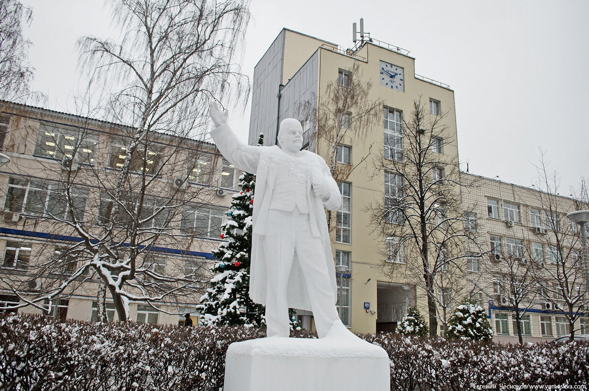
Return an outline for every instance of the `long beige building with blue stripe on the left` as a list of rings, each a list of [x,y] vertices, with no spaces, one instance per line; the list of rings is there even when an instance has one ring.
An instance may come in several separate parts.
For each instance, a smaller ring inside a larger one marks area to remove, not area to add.
[[[50,309],[47,300],[19,311],[96,319],[101,280],[85,247],[76,247],[88,240],[121,259],[138,249],[136,286],[126,289],[153,297],[165,312],[131,300],[128,319],[178,323],[184,317],[168,313],[191,312],[196,323],[237,170],[213,144],[158,133],[117,189],[128,128],[5,101],[0,107],[0,150],[11,159],[0,168],[0,306],[26,304],[68,281]],[[169,294],[171,287],[182,294]],[[116,319],[109,296],[107,314]]]

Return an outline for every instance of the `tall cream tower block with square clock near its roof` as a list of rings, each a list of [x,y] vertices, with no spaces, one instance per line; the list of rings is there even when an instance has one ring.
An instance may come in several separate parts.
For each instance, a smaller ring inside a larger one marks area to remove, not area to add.
[[[363,39],[355,48],[346,50],[289,29],[280,32],[254,68],[250,144],[255,143],[260,133],[267,145],[276,144],[279,122],[297,118],[305,130],[306,148],[329,163],[329,145],[313,137],[314,125],[306,121],[308,114],[300,110],[300,104],[307,102],[317,107],[328,99],[326,90],[330,82],[346,88],[350,69],[355,66],[355,77],[372,81],[368,100],[384,102],[379,109],[382,120],[362,138],[355,137],[352,129],[337,146],[337,164],[355,166],[363,157],[377,152],[386,154],[383,140],[388,140],[390,148],[402,148],[401,117],[412,111],[419,97],[425,102],[429,100],[434,113],[431,115],[448,113],[442,120],[446,128],[443,154],[448,160],[457,160],[454,91],[448,85],[416,75],[415,59],[408,51],[376,39]],[[355,113],[346,114],[351,118]],[[375,147],[371,150],[372,145]],[[382,272],[379,239],[370,234],[370,217],[365,207],[382,197],[385,175],[383,171],[375,173],[365,161],[340,184],[343,207],[337,211],[332,251],[336,262],[349,268],[341,280],[340,313],[343,322],[355,332],[394,329],[407,304],[416,297],[421,300],[420,306],[425,307],[423,294],[415,284],[392,279]]]

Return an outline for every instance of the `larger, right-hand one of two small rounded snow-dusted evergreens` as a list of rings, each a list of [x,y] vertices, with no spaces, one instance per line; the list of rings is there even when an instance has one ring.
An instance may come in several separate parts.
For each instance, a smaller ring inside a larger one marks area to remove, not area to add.
[[[485,309],[477,303],[463,301],[448,321],[446,337],[490,341],[493,332]]]

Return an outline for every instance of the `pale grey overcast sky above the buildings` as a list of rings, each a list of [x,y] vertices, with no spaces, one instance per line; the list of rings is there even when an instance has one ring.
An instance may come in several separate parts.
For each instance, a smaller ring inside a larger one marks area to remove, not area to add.
[[[75,41],[115,37],[110,8],[97,0],[22,0],[34,19],[25,30],[45,107],[75,112],[83,90]],[[243,72],[283,27],[352,47],[352,23],[408,49],[417,74],[455,91],[461,168],[530,185],[545,151],[561,177],[560,194],[588,176],[588,1],[261,1],[252,0]],[[247,141],[249,105],[231,118]]]

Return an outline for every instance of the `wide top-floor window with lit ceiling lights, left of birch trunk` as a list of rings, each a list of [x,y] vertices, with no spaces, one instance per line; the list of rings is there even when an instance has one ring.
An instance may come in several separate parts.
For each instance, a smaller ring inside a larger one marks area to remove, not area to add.
[[[34,155],[58,160],[74,159],[80,163],[91,164],[98,137],[84,130],[57,128],[41,124]]]

